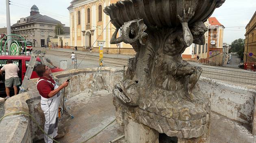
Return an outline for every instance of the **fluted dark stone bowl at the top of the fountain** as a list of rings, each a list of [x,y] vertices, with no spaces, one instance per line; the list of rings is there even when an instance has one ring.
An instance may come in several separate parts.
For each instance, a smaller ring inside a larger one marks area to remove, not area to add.
[[[215,8],[225,0],[120,0],[104,8],[104,13],[113,19],[112,24],[119,28],[124,22],[143,19],[147,26],[177,27],[180,21],[177,15],[183,15],[183,9],[193,8],[195,15],[189,24],[205,22]]]

